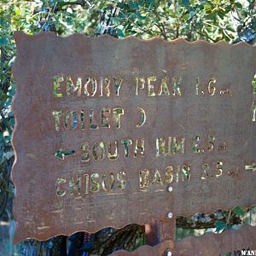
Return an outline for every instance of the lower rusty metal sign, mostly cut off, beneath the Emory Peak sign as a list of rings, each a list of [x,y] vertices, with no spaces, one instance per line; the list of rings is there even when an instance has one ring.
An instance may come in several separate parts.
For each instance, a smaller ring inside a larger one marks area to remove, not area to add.
[[[134,252],[117,251],[111,256],[166,256],[166,249],[169,247],[172,256],[224,256],[225,253],[231,253],[230,256],[242,255],[239,251],[255,250],[256,228],[247,226],[241,230],[228,230],[222,234],[207,233],[201,237],[187,237],[182,241],[175,242],[175,248],[170,246],[167,241],[160,243],[155,247],[143,246]],[[244,254],[253,255],[253,254]]]

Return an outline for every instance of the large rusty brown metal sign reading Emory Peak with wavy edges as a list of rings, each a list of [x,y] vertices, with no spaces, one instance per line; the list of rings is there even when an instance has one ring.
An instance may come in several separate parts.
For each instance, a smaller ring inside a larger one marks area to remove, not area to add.
[[[256,203],[255,47],[15,41],[15,241]]]

